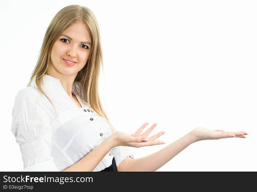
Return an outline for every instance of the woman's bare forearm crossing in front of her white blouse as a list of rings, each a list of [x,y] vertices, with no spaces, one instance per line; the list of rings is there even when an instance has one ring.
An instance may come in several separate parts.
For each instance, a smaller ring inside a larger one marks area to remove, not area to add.
[[[63,171],[93,171],[113,147],[115,145],[111,135],[81,160]]]

